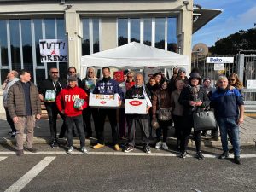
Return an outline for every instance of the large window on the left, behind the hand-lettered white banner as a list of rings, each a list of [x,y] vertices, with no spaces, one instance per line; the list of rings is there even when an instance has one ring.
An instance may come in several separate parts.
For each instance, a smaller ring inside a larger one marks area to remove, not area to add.
[[[65,39],[64,20],[0,20],[0,84],[3,84],[9,70],[20,71],[22,68],[31,72],[35,84],[48,77],[49,67],[65,71],[61,78],[67,75],[67,62],[41,63],[39,39],[42,38]]]

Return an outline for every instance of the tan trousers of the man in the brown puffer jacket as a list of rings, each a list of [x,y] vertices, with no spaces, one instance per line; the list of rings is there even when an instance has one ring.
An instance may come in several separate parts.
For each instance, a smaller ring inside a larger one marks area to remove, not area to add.
[[[15,123],[16,128],[16,142],[18,150],[23,149],[23,135],[26,129],[26,146],[32,148],[34,127],[35,127],[35,115],[18,117],[18,122]]]

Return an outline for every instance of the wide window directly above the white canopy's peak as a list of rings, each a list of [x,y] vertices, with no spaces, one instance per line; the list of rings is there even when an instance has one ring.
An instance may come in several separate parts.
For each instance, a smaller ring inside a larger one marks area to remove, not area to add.
[[[118,46],[133,41],[177,52],[177,18],[118,18]]]

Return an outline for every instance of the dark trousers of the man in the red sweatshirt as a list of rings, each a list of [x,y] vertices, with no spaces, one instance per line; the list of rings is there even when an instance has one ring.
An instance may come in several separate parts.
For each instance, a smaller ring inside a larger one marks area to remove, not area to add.
[[[76,125],[77,130],[79,132],[79,139],[80,139],[80,146],[81,148],[85,146],[85,136],[84,136],[84,126],[83,126],[83,116],[73,116],[65,117],[65,122],[67,125],[67,146],[71,147],[73,146],[73,123]]]

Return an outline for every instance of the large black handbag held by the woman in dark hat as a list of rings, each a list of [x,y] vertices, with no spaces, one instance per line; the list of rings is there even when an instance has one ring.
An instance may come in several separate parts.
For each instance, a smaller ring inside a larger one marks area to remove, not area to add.
[[[202,111],[193,113],[194,130],[214,130],[216,129],[217,122],[212,111]]]

